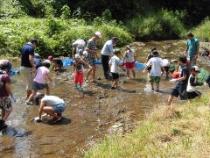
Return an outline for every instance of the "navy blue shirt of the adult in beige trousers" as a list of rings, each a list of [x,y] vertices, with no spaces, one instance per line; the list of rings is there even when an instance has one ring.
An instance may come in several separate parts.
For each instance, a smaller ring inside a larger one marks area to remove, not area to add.
[[[29,60],[29,55],[34,56],[34,48],[31,44],[27,43],[21,50],[21,66],[29,68],[32,67]]]

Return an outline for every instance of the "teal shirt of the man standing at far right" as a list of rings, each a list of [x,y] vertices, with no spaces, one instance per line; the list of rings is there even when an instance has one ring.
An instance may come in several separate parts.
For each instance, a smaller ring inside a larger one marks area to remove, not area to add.
[[[197,38],[192,38],[187,40],[187,55],[192,58],[196,55],[199,47],[199,41]]]

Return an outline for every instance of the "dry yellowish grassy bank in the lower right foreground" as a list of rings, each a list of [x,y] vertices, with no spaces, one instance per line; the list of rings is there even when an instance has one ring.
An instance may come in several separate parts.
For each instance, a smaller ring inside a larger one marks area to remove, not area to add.
[[[160,106],[132,133],[105,138],[86,158],[209,157],[209,94],[191,103],[176,105],[166,114]]]

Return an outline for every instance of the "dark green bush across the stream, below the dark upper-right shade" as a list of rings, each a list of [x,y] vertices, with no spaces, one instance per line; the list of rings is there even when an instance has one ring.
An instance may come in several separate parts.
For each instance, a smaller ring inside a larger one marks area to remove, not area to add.
[[[161,10],[144,17],[138,16],[128,21],[127,26],[137,39],[177,39],[185,32],[181,15],[178,12]]]

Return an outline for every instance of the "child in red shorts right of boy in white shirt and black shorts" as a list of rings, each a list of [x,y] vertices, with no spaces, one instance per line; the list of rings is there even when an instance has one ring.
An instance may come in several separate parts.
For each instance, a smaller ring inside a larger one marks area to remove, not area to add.
[[[135,78],[135,53],[131,50],[129,46],[126,47],[126,51],[123,57],[123,63],[125,63],[127,77],[130,79],[130,71],[133,74],[133,78]]]

